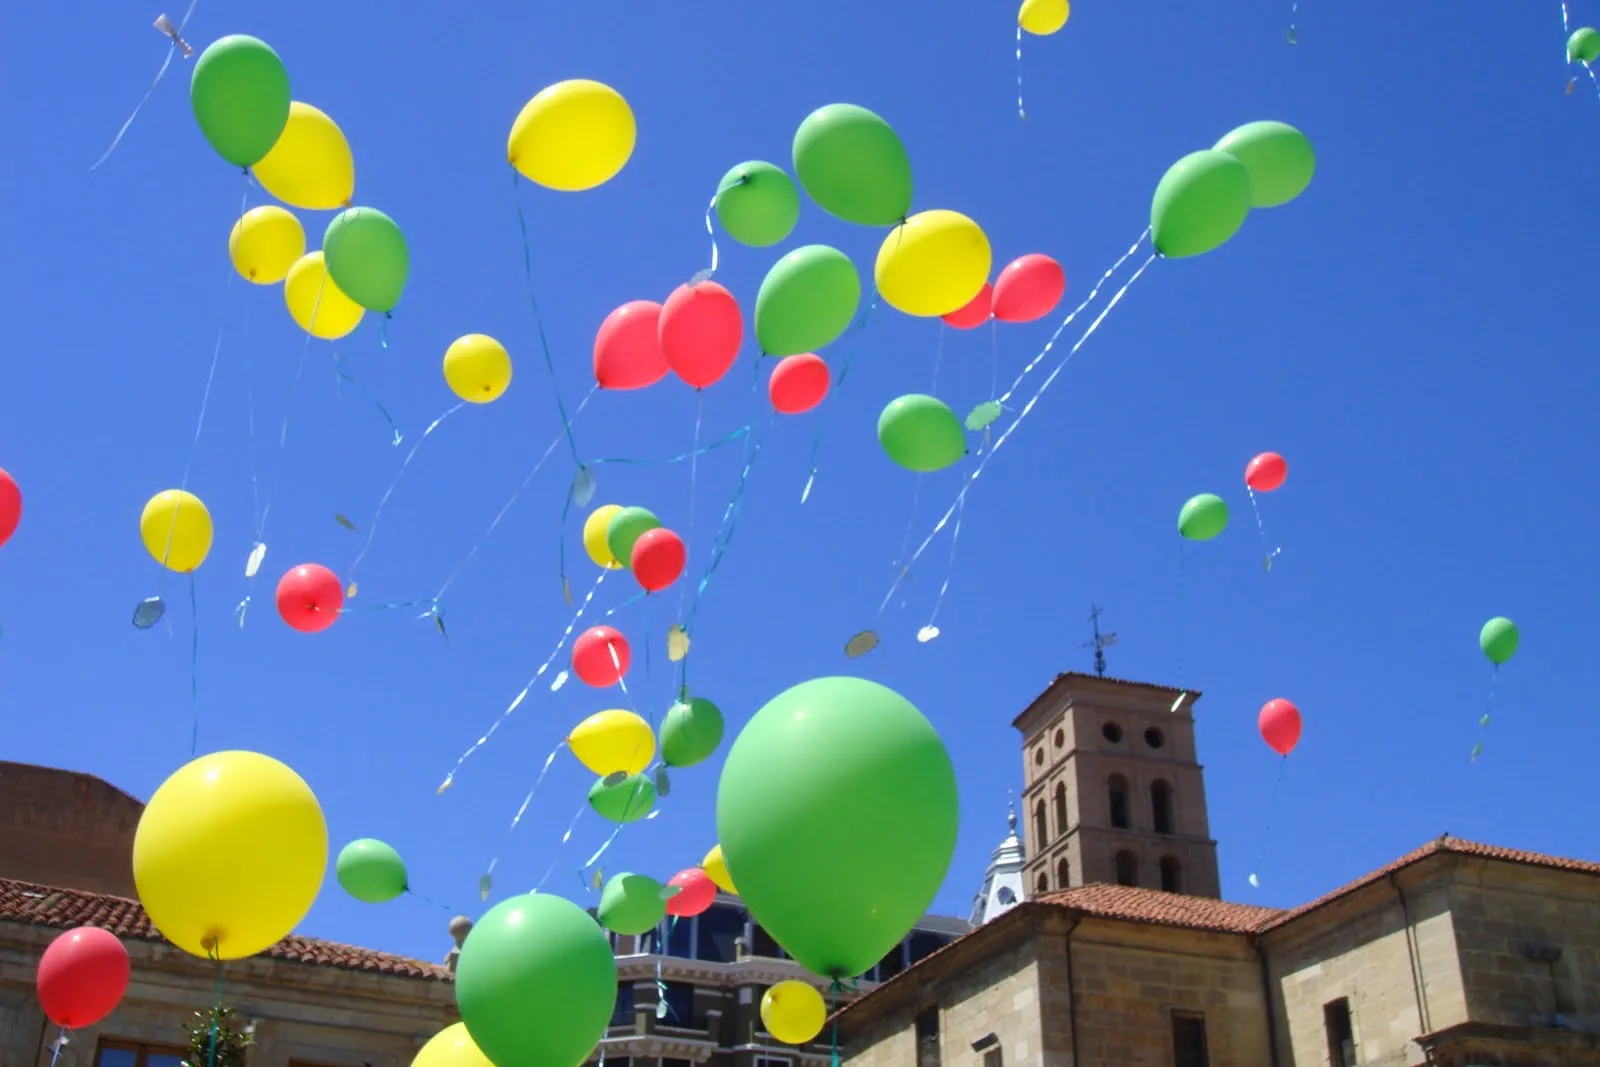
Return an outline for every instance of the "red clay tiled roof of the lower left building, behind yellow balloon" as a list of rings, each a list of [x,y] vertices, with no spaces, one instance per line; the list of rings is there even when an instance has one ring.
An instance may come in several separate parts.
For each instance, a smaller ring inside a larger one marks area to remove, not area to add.
[[[150,925],[138,901],[82,889],[61,889],[30,881],[0,878],[0,921],[67,929],[70,926],[102,926],[128,941],[165,941]],[[341,945],[290,934],[264,953],[274,960],[331,966],[342,971],[370,971],[402,977],[450,981],[450,971],[421,960]]]

